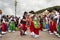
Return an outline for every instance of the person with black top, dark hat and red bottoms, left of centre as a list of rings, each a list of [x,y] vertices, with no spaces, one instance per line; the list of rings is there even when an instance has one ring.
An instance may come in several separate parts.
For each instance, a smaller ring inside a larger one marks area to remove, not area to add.
[[[27,30],[27,27],[26,27],[26,16],[27,16],[27,12],[24,12],[24,15],[23,15],[23,18],[21,20],[21,30],[20,30],[20,35],[26,35],[26,30]]]

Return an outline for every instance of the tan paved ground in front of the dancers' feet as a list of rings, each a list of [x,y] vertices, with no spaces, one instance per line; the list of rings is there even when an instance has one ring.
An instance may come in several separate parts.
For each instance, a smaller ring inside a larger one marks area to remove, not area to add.
[[[50,35],[48,32],[41,31],[40,37],[37,39],[30,36],[29,31],[27,31],[27,33],[28,34],[26,36],[22,37],[20,36],[19,31],[16,31],[15,33],[7,33],[2,38],[0,38],[0,40],[60,40],[60,38],[55,35]]]

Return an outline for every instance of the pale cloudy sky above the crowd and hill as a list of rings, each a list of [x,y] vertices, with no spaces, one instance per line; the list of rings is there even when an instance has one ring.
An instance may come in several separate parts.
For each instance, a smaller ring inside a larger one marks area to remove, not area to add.
[[[24,11],[38,11],[44,8],[59,6],[60,0],[16,0],[17,1],[17,16],[22,16]],[[15,15],[15,0],[0,0],[0,9],[3,14]]]

